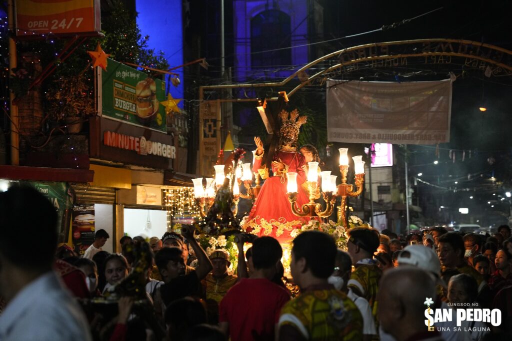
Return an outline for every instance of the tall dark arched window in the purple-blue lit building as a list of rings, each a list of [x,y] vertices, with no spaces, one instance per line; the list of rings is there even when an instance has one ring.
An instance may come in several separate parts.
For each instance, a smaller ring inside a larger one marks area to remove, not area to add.
[[[291,50],[255,53],[291,46],[290,17],[278,10],[263,11],[251,19],[251,66],[291,64]]]

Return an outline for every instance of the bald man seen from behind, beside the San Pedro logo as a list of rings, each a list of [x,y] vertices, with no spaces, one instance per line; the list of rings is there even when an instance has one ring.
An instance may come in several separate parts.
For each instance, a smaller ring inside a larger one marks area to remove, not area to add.
[[[380,280],[378,318],[382,329],[396,341],[441,341],[438,331],[428,331],[425,326],[423,302],[436,300],[433,277],[414,267],[397,267],[386,271]]]

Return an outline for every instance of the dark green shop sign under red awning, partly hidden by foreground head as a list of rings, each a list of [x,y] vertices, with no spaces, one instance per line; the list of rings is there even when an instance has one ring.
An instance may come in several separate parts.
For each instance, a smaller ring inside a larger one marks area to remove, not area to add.
[[[58,229],[58,243],[65,243],[68,241],[69,235],[69,221],[71,217],[71,208],[73,205],[73,196],[71,188],[67,183],[48,181],[19,181],[22,186],[32,186],[39,193],[46,196],[57,210],[57,229]]]

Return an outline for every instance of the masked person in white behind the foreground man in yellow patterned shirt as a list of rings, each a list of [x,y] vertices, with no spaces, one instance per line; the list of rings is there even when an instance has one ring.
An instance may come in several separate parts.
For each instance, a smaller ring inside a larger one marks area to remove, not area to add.
[[[373,335],[377,334],[375,322],[373,320],[372,309],[365,298],[356,295],[352,289],[347,287],[347,283],[352,273],[352,259],[350,255],[340,249],[336,252],[334,261],[334,272],[327,279],[329,284],[334,285],[336,290],[345,292],[347,297],[354,302],[362,316],[362,339],[371,340]]]

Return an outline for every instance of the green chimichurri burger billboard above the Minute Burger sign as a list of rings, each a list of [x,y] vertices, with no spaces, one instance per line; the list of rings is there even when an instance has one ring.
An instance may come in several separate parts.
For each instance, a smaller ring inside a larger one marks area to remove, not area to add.
[[[167,132],[165,82],[109,58],[101,73],[102,116]]]

